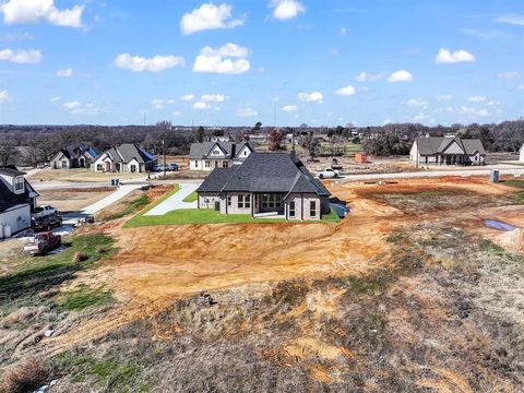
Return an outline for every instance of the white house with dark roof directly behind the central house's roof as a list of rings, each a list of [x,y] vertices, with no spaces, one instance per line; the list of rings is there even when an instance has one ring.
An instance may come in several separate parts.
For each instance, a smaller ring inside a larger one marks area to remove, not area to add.
[[[192,143],[189,152],[189,169],[212,171],[242,164],[253,153],[249,142],[203,142]]]

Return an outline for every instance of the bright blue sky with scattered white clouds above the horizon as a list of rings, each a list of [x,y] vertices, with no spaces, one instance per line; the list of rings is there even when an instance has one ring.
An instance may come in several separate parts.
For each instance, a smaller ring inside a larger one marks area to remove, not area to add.
[[[0,123],[523,115],[517,0],[0,0]]]

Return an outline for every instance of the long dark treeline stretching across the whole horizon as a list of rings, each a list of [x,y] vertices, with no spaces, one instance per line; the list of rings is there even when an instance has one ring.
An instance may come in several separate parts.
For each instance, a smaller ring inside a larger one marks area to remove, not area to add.
[[[37,165],[48,163],[60,150],[69,145],[85,142],[100,152],[121,143],[136,143],[155,153],[165,150],[169,155],[189,153],[192,142],[209,140],[212,136],[229,136],[234,141],[242,140],[245,134],[270,134],[271,127],[262,127],[258,122],[253,128],[226,127],[171,127],[160,122],[156,126],[0,126],[0,165]],[[332,144],[344,141],[361,143],[362,148],[377,156],[406,155],[413,141],[420,135],[443,136],[455,134],[462,138],[478,138],[488,152],[517,152],[524,143],[524,120],[504,121],[499,124],[469,126],[453,124],[451,127],[427,127],[417,123],[395,123],[383,127],[286,127],[282,134],[293,133],[296,136],[310,135],[315,146],[329,140]],[[282,136],[283,136],[282,135]],[[315,140],[312,135],[322,135]],[[305,138],[305,136],[303,136]],[[318,147],[318,146],[317,146]]]

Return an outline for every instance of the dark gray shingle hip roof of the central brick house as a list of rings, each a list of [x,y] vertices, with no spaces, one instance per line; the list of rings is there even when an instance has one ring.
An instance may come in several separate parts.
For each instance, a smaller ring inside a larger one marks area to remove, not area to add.
[[[242,165],[216,168],[199,192],[297,192],[330,195],[300,160],[286,153],[252,153]]]

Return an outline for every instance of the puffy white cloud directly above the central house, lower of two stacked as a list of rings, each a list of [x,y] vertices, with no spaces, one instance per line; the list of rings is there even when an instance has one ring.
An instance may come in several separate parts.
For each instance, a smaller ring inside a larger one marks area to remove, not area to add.
[[[226,44],[217,49],[202,48],[193,64],[193,72],[240,74],[248,72],[251,64],[245,59],[249,49],[236,44]]]

